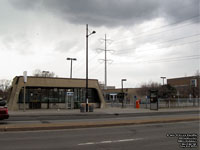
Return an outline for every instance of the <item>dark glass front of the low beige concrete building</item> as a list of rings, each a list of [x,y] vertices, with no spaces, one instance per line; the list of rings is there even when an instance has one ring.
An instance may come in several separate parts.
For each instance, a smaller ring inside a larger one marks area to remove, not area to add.
[[[26,88],[26,103],[65,103],[67,92],[73,92],[73,101],[78,106],[80,103],[85,103],[85,88]],[[24,89],[22,88],[19,94],[19,103],[23,103]],[[99,103],[100,99],[96,89],[88,89],[88,98],[90,103]]]

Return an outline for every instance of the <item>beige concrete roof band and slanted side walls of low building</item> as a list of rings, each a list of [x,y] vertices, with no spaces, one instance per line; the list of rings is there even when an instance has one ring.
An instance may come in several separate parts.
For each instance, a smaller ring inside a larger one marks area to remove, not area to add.
[[[25,86],[30,87],[57,87],[57,88],[85,88],[85,79],[69,79],[69,78],[48,78],[48,77],[28,77]],[[13,79],[12,90],[8,99],[8,109],[9,110],[19,110],[21,105],[18,104],[18,98],[20,90],[24,87],[24,81],[22,76],[17,76]],[[94,88],[97,90],[100,107],[105,107],[105,101],[103,98],[102,91],[99,87],[98,80],[90,79],[88,80],[88,88]],[[59,104],[60,107],[64,107]],[[28,107],[28,106],[27,106]],[[45,106],[42,106],[42,108]],[[53,107],[53,106],[52,106]]]

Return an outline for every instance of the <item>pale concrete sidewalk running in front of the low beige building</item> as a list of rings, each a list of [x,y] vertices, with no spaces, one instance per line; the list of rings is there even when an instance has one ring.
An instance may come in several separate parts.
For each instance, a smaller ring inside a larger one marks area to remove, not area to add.
[[[92,114],[126,114],[126,113],[148,113],[148,112],[181,112],[181,111],[199,111],[200,107],[182,107],[182,108],[162,108],[159,110],[150,110],[144,108],[117,108],[109,107],[103,109],[94,109],[94,112],[80,112],[79,109],[35,109],[9,111],[10,116],[20,115],[92,115]]]

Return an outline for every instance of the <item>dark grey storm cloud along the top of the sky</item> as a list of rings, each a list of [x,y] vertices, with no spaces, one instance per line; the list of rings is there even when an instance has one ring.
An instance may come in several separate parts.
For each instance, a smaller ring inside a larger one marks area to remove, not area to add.
[[[10,0],[24,10],[47,10],[75,24],[120,26],[163,17],[177,21],[199,15],[199,0]]]

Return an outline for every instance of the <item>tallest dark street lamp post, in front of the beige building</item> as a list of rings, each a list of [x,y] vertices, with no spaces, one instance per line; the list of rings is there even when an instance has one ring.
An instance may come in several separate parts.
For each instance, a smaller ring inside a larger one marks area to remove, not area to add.
[[[86,24],[86,112],[88,112],[88,37],[92,34],[95,34],[96,31],[88,33],[88,24]]]

